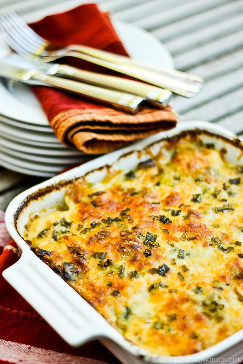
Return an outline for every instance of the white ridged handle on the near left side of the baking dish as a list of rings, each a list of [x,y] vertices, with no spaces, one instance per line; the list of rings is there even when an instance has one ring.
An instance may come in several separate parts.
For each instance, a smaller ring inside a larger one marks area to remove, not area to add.
[[[3,277],[68,344],[79,346],[92,339],[110,336],[110,330],[114,329],[93,307],[61,277],[50,272],[51,268],[34,253],[30,250],[23,253],[3,272]]]

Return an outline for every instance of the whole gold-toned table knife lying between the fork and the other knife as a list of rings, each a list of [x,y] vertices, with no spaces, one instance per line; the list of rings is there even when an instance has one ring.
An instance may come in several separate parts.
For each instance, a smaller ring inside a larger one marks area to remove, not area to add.
[[[67,64],[40,63],[32,60],[30,61],[15,53],[12,53],[7,58],[5,58],[4,63],[5,62],[12,66],[20,66],[28,70],[38,69],[47,75],[72,78],[99,87],[112,88],[114,90],[128,92],[129,94],[141,96],[142,98],[147,99],[149,103],[161,108],[168,105],[172,96],[171,91],[164,90],[163,88],[143,82],[84,71],[80,70],[79,68],[68,66]]]

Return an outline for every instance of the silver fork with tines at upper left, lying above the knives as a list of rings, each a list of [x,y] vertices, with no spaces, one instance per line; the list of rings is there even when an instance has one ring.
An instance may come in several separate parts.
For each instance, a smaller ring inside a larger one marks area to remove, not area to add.
[[[180,71],[152,68],[128,57],[86,46],[72,45],[54,51],[49,50],[50,42],[36,34],[15,12],[2,15],[0,25],[3,37],[9,46],[28,59],[51,62],[64,56],[72,56],[166,88],[185,97],[197,94],[203,84],[203,79],[200,77]]]

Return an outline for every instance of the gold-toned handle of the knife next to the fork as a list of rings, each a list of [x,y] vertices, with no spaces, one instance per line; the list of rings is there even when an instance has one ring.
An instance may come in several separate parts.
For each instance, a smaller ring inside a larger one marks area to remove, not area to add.
[[[122,92],[146,98],[150,103],[163,108],[168,105],[172,92],[143,82],[133,81],[121,77],[102,75],[95,72],[80,70],[66,64],[54,64],[48,74],[70,77],[75,80],[87,82],[101,87],[114,88]]]

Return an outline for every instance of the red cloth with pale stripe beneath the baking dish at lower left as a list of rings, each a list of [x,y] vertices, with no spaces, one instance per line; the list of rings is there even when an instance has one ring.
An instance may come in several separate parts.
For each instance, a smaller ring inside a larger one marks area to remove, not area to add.
[[[3,218],[0,211],[0,219]],[[42,317],[2,276],[19,259],[17,246],[9,242],[0,220],[0,363],[15,364],[102,364],[120,362],[99,341],[80,348],[66,344]]]

